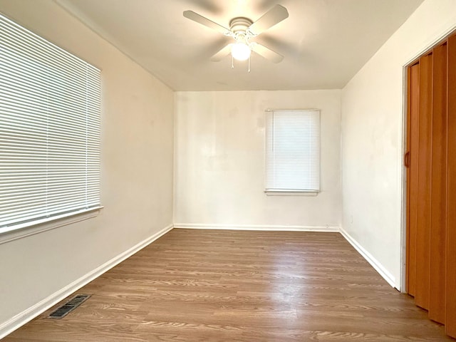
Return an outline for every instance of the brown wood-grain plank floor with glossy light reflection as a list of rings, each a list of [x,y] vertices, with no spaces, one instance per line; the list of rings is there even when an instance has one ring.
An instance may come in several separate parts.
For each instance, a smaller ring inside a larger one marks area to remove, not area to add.
[[[455,341],[338,233],[173,229],[4,342]]]

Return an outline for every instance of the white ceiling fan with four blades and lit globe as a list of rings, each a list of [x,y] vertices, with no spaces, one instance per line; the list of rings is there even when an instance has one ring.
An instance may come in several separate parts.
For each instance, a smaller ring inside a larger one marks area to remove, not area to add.
[[[225,36],[234,38],[233,43],[229,43],[227,46],[224,46],[224,48],[212,56],[212,61],[221,61],[222,58],[228,56],[229,53],[232,54],[232,58],[237,59],[238,61],[245,61],[247,59],[250,61],[252,51],[258,53],[260,56],[263,56],[273,63],[279,63],[282,59],[284,59],[284,56],[272,51],[270,48],[266,48],[266,46],[250,41],[251,38],[258,36],[268,28],[271,28],[282,20],[288,18],[289,14],[284,6],[274,6],[255,22],[243,16],[237,16],[229,21],[229,28],[219,25],[214,21],[195,13],[194,11],[184,11],[184,16],[185,18],[212,28],[215,31],[219,31]]]

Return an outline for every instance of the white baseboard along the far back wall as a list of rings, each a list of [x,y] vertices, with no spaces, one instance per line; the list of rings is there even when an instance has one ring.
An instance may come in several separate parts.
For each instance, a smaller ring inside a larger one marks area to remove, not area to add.
[[[283,232],[339,232],[338,226],[276,226],[261,224],[198,224],[175,223],[175,228],[184,229],[231,229],[231,230],[263,230]]]

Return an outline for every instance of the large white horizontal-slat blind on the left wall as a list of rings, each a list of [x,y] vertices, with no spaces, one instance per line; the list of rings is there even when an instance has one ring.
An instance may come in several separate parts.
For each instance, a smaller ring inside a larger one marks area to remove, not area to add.
[[[100,71],[0,15],[0,233],[100,205]]]

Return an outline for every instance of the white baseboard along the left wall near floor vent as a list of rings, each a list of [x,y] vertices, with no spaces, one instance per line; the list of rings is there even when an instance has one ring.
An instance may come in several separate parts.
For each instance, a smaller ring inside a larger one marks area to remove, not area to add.
[[[81,289],[81,287],[90,283],[90,281],[93,281],[93,279],[97,278],[98,276],[105,273],[106,271],[112,269],[115,265],[120,264],[120,262],[124,261],[125,259],[128,259],[128,257],[131,257],[133,254],[140,251],[141,249],[146,247],[148,244],[151,244],[156,239],[161,237],[163,234],[166,234],[167,232],[169,232],[172,228],[173,228],[173,225],[170,224],[169,226],[160,230],[160,232],[153,234],[151,237],[148,237],[147,239],[143,240],[139,244],[136,244],[135,246],[133,246],[130,249],[126,250],[125,252],[119,254],[118,256],[114,257],[113,259],[110,259],[109,261],[105,262],[105,264],[97,267],[93,271],[88,272],[88,274],[81,276],[81,278],[77,279],[76,281],[73,281],[73,283],[71,283],[71,284],[68,284],[63,289],[60,289],[57,292],[51,294],[51,296],[48,296],[47,298],[43,299],[42,301],[38,302],[37,304],[22,311],[20,314],[17,314],[16,316],[10,318],[8,321],[1,323],[0,324],[0,340],[1,340],[1,338],[4,338],[6,335],[8,335],[9,333],[12,333],[13,331],[15,331],[17,328],[23,326],[28,321],[31,321],[36,316],[41,315],[44,311],[50,309],[52,306],[56,305],[59,301],[65,299],[69,295],[73,294],[73,292],[78,291],[78,289]]]

